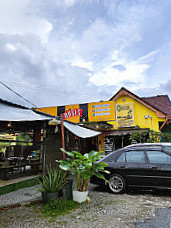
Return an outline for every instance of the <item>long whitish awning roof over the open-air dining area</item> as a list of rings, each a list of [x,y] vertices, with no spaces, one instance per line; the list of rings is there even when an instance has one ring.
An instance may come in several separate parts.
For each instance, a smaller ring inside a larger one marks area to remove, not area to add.
[[[52,117],[37,114],[30,109],[0,103],[0,121],[36,121],[49,119],[52,119]]]

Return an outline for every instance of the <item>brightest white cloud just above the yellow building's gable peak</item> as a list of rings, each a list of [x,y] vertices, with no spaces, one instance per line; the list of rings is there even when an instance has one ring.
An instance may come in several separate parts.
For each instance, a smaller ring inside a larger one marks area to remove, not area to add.
[[[90,76],[90,82],[97,86],[118,86],[122,85],[125,81],[132,81],[133,87],[135,87],[135,84],[138,87],[145,86],[146,71],[150,68],[148,62],[157,53],[158,51],[153,51],[140,57],[138,60],[130,61],[126,57],[121,58],[118,51],[115,51],[111,56],[113,63],[100,69],[100,72],[92,74]],[[120,71],[114,68],[114,64],[123,66],[125,70]]]

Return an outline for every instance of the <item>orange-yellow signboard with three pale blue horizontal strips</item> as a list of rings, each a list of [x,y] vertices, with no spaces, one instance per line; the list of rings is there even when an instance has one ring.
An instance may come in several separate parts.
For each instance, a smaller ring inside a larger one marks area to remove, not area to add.
[[[89,103],[88,120],[90,122],[115,120],[114,101]]]

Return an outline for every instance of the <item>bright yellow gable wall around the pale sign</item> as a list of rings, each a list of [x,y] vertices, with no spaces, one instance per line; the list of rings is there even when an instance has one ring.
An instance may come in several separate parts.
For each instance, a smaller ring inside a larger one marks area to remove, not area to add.
[[[133,115],[134,115],[134,123],[135,126],[139,126],[140,128],[149,128],[151,130],[159,132],[159,121],[165,121],[165,118],[158,118],[157,113],[148,107],[144,106],[140,102],[136,101],[130,96],[120,96],[116,100],[117,104],[133,104]],[[150,118],[145,119],[144,116],[151,116],[152,122]],[[117,127],[117,120],[108,122],[113,124],[114,129],[120,129]]]

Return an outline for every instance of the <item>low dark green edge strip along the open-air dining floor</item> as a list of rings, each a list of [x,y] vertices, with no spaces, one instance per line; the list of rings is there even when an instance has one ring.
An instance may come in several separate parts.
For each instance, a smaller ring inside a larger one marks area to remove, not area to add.
[[[21,188],[32,187],[38,183],[39,183],[39,178],[35,177],[35,178],[21,181],[21,182],[15,183],[15,184],[6,185],[3,187],[0,187],[0,195],[7,194],[9,192],[16,191]]]

